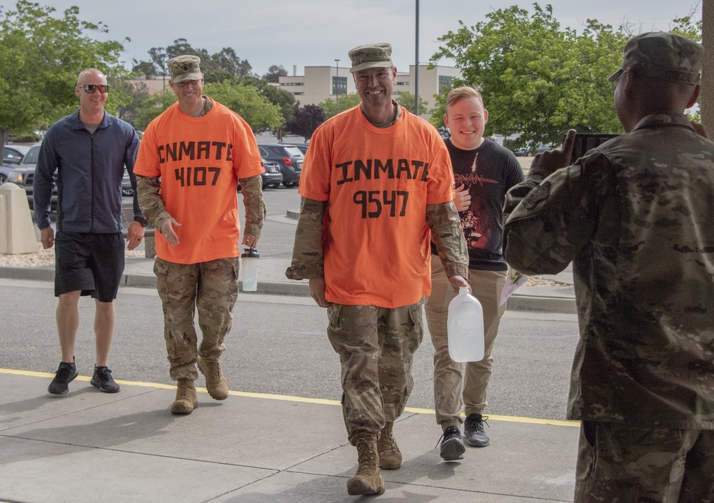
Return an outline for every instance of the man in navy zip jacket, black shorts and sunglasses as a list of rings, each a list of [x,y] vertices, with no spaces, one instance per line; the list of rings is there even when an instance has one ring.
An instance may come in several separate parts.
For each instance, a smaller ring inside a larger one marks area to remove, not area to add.
[[[128,123],[104,111],[109,92],[104,73],[87,68],[74,88],[79,111],[50,126],[42,142],[34,176],[34,216],[44,248],[55,246],[54,295],[62,360],[49,385],[64,395],[77,376],[74,341],[79,327],[79,298],[95,300],[96,362],[91,385],[116,393],[119,385],[107,367],[114,335],[114,299],[124,273],[121,234],[121,178],[124,166],[134,179],[139,138]],[[52,189],[57,184],[57,235],[50,226]],[[134,191],[134,222],[129,225],[129,250],[144,238],[146,218]]]

